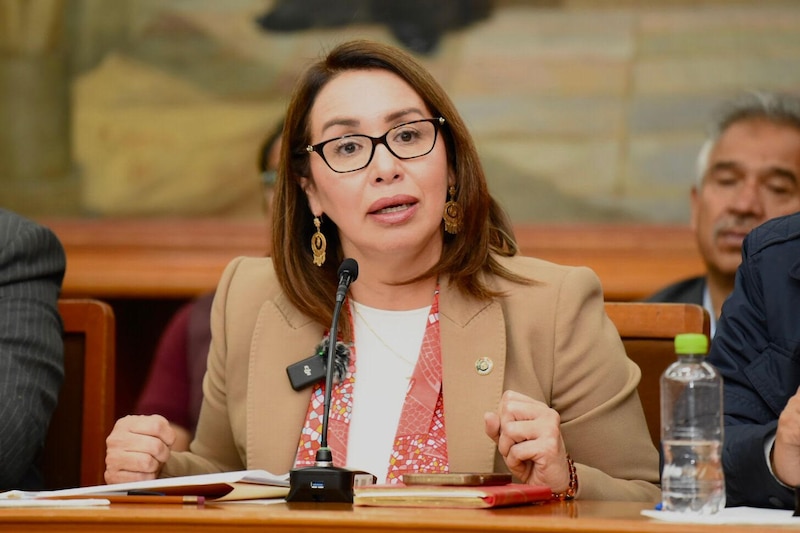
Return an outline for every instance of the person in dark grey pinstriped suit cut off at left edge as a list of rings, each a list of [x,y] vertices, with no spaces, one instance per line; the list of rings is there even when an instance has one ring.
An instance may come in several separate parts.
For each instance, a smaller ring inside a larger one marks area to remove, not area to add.
[[[36,460],[64,379],[64,248],[0,209],[0,490],[43,487]]]

